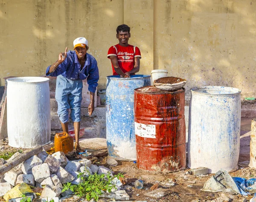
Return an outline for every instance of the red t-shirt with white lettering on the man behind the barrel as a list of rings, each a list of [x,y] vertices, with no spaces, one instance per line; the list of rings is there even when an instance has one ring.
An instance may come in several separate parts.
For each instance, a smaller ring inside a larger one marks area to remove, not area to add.
[[[118,65],[125,73],[127,71],[131,71],[134,68],[134,58],[140,57],[140,49],[136,46],[120,46],[116,44],[116,46],[111,46],[108,49],[108,58],[110,56],[116,56]],[[113,75],[118,75],[112,65]]]

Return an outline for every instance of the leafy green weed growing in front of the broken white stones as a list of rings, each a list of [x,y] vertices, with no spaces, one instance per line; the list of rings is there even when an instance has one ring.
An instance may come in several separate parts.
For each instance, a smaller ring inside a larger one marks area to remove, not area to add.
[[[72,185],[70,182],[64,184],[62,192],[70,189],[78,196],[86,196],[86,199],[99,199],[99,195],[102,195],[103,191],[110,192],[112,188],[116,189],[116,185],[113,185],[111,181],[117,177],[123,177],[122,174],[115,175],[112,177],[110,174],[93,174],[84,176],[84,173],[80,173],[77,177],[81,179],[79,185]]]

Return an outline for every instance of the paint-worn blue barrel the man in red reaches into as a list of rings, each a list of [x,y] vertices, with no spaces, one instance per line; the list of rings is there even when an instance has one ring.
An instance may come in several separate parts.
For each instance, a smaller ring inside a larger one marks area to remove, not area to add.
[[[107,77],[106,132],[109,157],[123,161],[136,160],[134,89],[149,85],[150,75]]]

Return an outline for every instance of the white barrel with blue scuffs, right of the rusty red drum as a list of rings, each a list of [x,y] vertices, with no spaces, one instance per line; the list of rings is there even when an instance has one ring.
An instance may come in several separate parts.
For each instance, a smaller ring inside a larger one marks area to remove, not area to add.
[[[241,90],[222,86],[191,88],[188,167],[209,173],[238,169]]]

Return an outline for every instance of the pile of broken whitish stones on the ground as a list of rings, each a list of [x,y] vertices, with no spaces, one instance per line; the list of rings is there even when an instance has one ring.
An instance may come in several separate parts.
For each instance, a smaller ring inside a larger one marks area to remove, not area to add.
[[[8,159],[8,162],[12,161],[18,155],[20,155],[19,152]],[[5,163],[5,160],[0,159],[0,165]],[[62,192],[62,184],[67,182],[79,184],[81,182],[81,179],[77,177],[79,173],[84,173],[85,175],[95,173],[111,174],[111,170],[104,166],[98,167],[97,165],[93,165],[88,159],[69,161],[63,152],[48,155],[46,151],[41,151],[41,153],[32,156],[0,176],[0,196],[8,194],[16,185],[26,183],[30,186],[43,188],[39,201],[45,202],[53,199],[54,202],[59,202],[61,201],[61,197],[62,199],[63,197],[67,198],[73,193],[70,190]],[[126,193],[125,195],[125,191],[120,190],[120,187],[122,187],[120,180],[117,178],[114,180],[116,187],[119,188],[116,193],[111,194],[119,196],[116,198],[123,197],[125,200],[129,200],[128,194]],[[33,196],[29,197],[33,198]],[[22,198],[9,199],[9,202],[19,202],[20,199]]]

